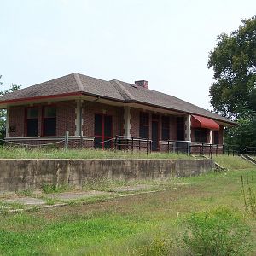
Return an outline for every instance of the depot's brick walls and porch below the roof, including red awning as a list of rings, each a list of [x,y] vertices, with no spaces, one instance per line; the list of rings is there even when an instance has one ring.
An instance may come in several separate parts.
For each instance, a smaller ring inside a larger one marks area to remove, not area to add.
[[[224,153],[223,123],[195,114],[101,99],[9,107],[7,127],[5,143],[9,145]]]

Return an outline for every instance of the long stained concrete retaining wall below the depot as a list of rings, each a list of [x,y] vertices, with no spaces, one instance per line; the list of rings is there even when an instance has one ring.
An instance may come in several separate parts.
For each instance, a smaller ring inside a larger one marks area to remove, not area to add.
[[[43,184],[82,186],[91,179],[188,177],[213,170],[212,160],[0,160],[0,191]]]

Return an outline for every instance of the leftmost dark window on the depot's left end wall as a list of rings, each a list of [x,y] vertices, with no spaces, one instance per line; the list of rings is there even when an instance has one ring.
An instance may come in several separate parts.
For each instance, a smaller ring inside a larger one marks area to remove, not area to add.
[[[26,108],[26,136],[38,136],[38,108]]]

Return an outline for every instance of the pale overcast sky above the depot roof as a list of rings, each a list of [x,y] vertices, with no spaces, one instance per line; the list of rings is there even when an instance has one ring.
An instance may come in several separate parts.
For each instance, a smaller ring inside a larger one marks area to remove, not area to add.
[[[209,51],[255,14],[255,0],[0,0],[1,81],[145,79],[210,109]]]

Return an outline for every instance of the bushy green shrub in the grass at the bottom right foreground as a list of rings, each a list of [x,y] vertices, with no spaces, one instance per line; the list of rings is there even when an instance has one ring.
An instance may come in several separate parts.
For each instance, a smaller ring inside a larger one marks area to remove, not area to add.
[[[185,225],[183,241],[191,255],[244,255],[249,249],[250,229],[229,208],[194,213]]]

